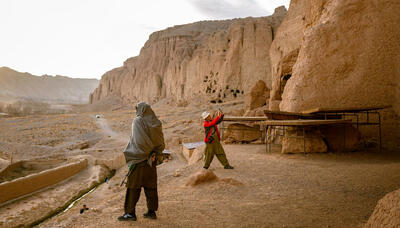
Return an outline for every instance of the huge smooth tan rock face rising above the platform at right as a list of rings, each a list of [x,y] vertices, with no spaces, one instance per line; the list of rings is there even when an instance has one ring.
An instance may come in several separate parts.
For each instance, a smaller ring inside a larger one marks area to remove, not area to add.
[[[394,0],[292,0],[270,50],[270,108],[392,105],[383,112],[383,140],[398,148],[399,10]]]

